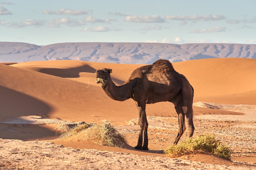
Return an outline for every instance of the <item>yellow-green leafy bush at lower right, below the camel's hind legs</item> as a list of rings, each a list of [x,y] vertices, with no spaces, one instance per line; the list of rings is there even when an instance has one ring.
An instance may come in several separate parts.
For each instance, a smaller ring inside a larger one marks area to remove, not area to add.
[[[164,153],[174,158],[186,154],[209,152],[224,159],[230,159],[229,146],[223,146],[214,135],[200,135],[194,139],[188,138],[178,145],[169,146]]]

